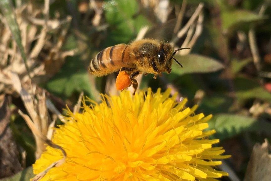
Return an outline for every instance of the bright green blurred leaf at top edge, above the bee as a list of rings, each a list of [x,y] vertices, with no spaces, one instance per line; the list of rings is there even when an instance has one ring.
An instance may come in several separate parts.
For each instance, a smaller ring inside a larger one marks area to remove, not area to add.
[[[136,0],[109,0],[104,2],[105,19],[109,23],[106,46],[127,43],[134,39],[141,27],[150,22],[139,11]]]

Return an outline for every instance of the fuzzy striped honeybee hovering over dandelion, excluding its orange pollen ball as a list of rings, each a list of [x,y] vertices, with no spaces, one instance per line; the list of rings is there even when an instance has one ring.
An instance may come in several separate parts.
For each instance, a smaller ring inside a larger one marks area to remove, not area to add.
[[[189,48],[179,48],[173,52],[171,44],[153,39],[136,40],[129,45],[118,44],[99,52],[90,61],[88,71],[98,77],[124,71],[129,76],[130,82],[136,91],[138,86],[137,75],[154,74],[156,79],[157,75],[161,75],[162,72],[169,74],[172,59],[183,67],[173,57],[177,51],[183,49]]]

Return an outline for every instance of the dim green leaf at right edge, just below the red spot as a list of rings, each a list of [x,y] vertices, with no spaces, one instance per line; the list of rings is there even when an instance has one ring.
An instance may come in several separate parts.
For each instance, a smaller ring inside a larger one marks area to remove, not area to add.
[[[258,82],[244,77],[237,77],[234,80],[236,96],[240,100],[258,98],[271,101],[271,94]]]

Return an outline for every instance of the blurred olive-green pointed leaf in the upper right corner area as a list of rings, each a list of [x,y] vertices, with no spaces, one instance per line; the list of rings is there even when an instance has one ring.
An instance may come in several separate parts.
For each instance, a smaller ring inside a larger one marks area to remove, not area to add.
[[[246,10],[224,10],[221,13],[222,27],[228,30],[234,26],[242,27],[247,23],[253,23],[265,19],[263,16]]]

